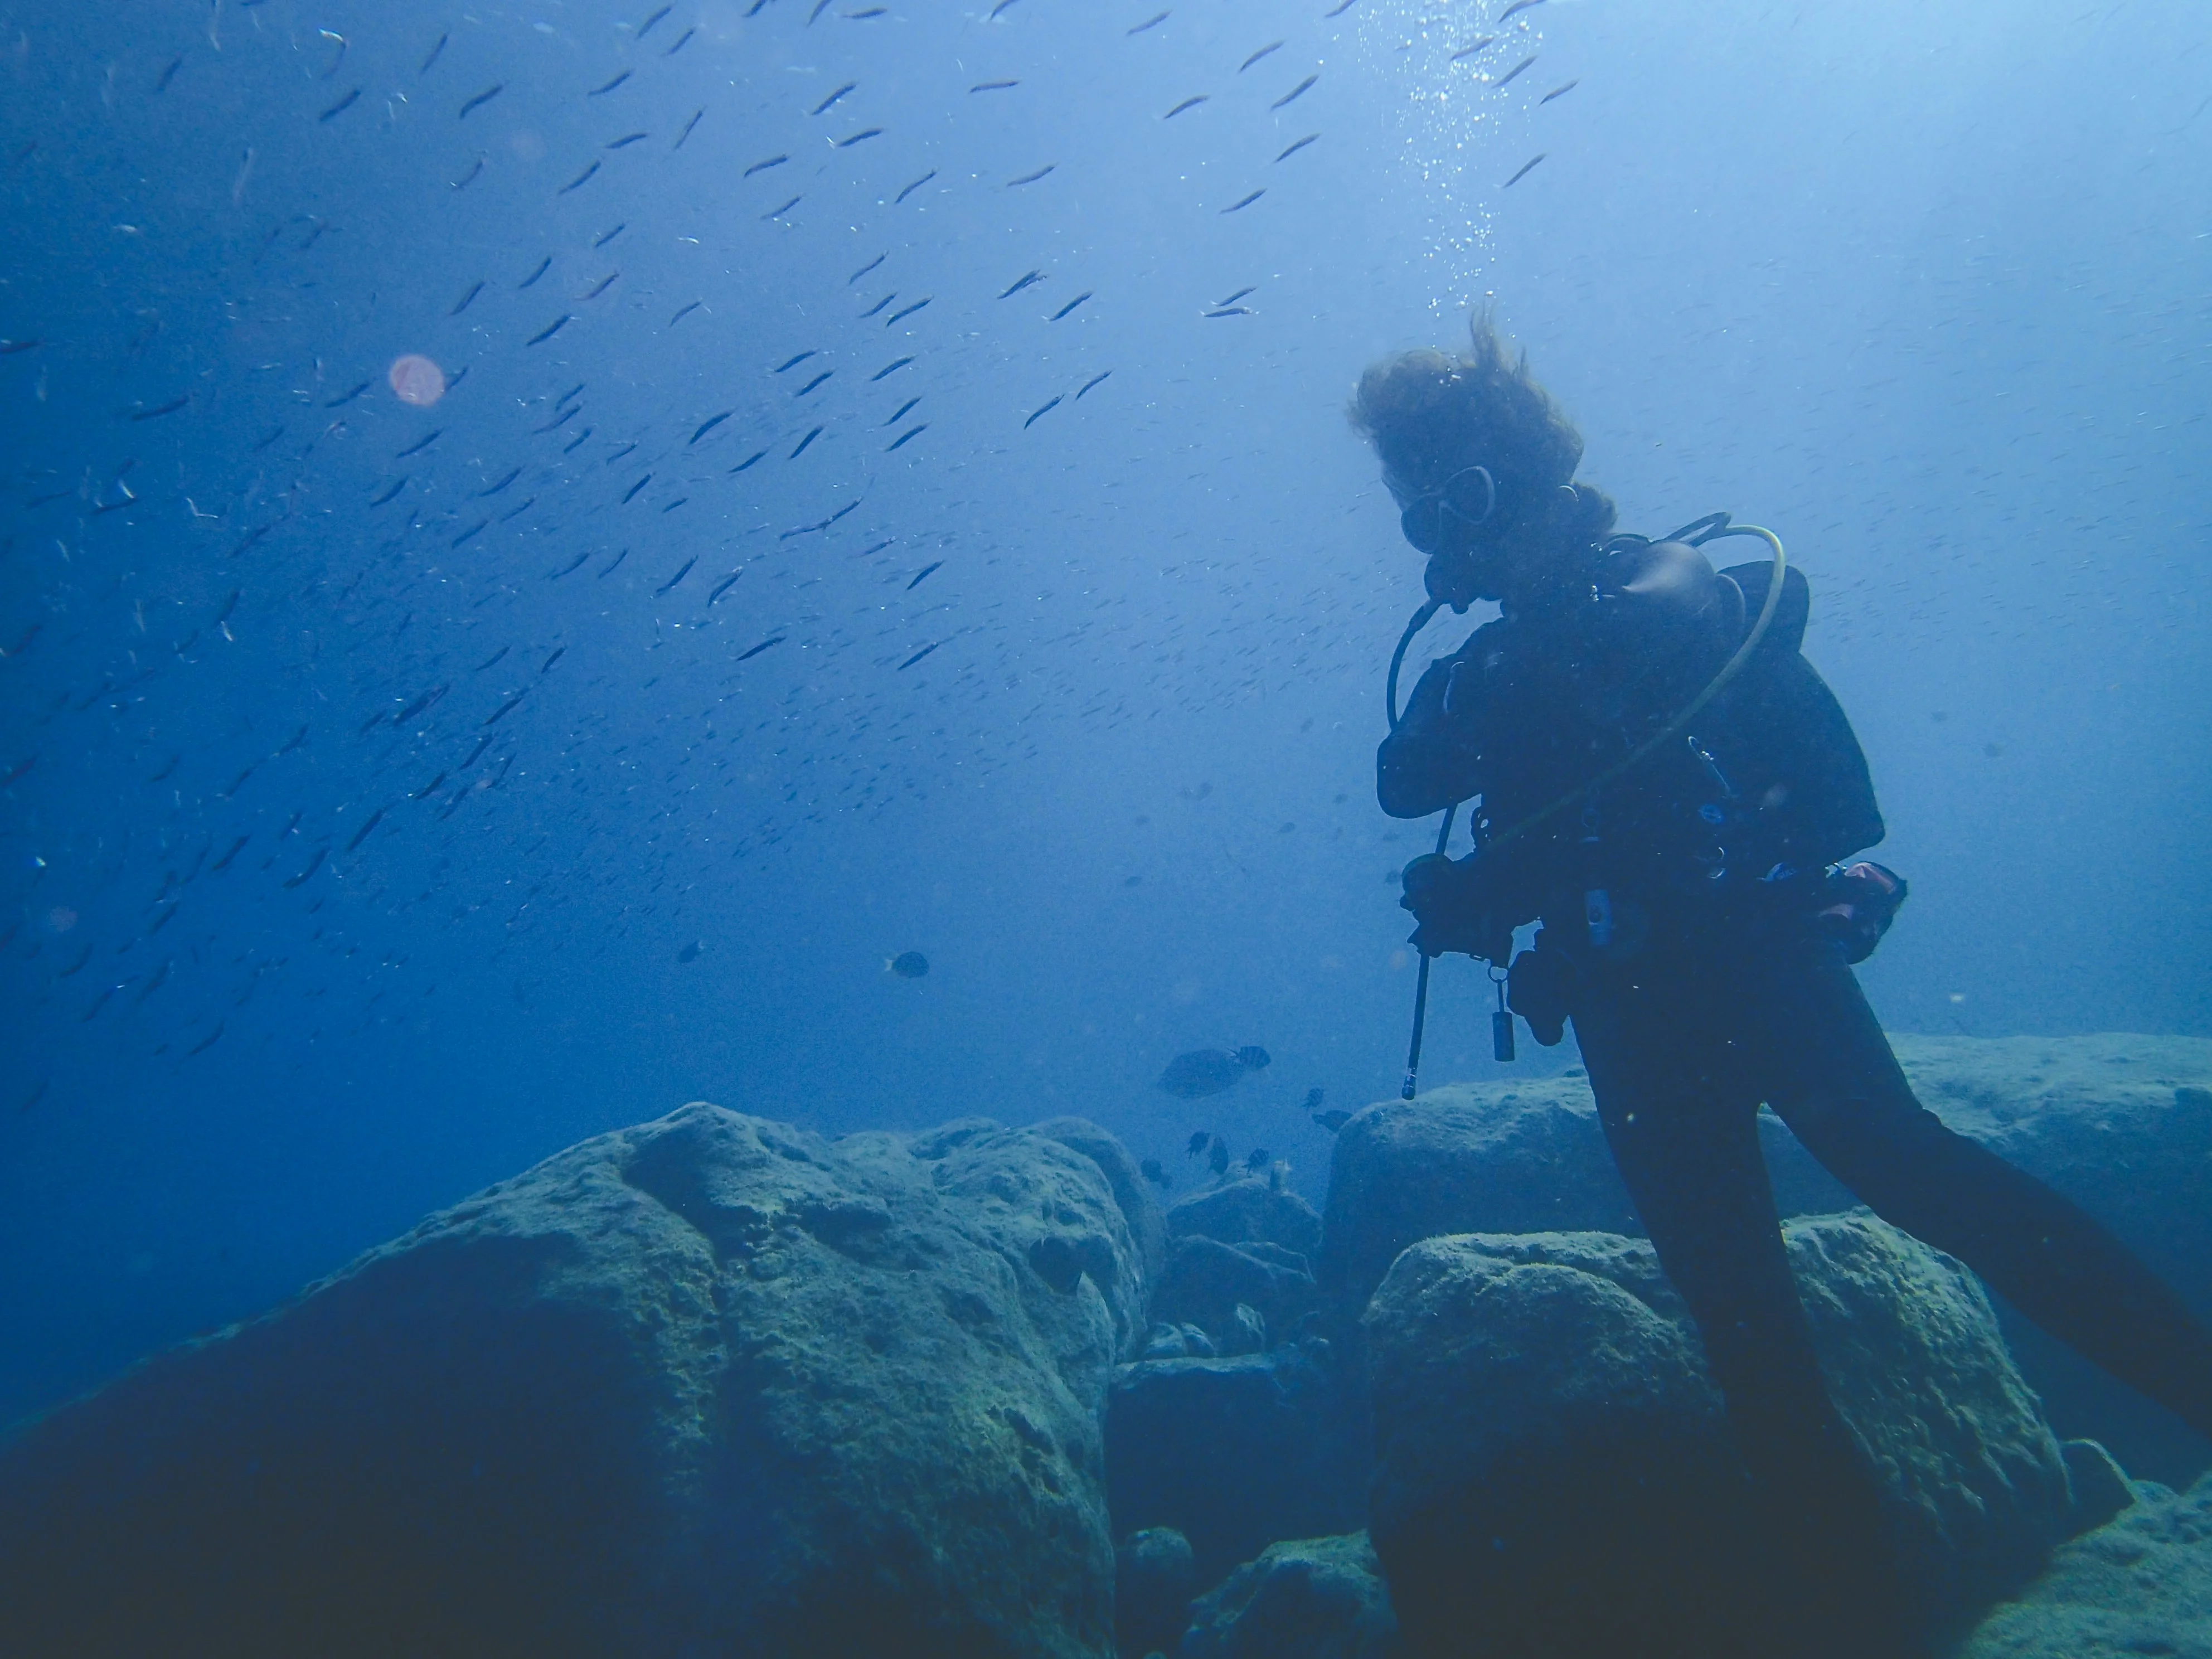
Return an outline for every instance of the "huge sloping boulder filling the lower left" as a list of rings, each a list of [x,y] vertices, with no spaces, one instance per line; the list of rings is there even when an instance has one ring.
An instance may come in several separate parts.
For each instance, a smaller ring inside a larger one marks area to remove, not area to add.
[[[1104,1659],[1095,1137],[584,1141],[9,1444],[9,1650]]]

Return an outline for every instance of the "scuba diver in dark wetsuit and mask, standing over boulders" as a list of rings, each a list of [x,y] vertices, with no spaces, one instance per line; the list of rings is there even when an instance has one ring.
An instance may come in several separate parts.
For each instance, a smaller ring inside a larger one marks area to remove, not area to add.
[[[1422,969],[1486,958],[1537,1042],[1573,1022],[1767,1537],[1818,1610],[1805,1650],[1911,1652],[1880,1486],[1790,1276],[1761,1102],[1885,1221],[2208,1436],[2212,1332],[2106,1228],[1913,1097],[1851,973],[1905,883],[1847,863],[1882,816],[1849,719],[1798,655],[1809,591],[1781,544],[1725,515],[1615,535],[1613,502],[1575,482],[1582,436],[1480,316],[1467,356],[1369,367],[1352,420],[1429,557],[1400,657],[1436,608],[1500,606],[1429,664],[1402,719],[1391,666],[1383,810],[1475,803],[1475,849],[1449,858],[1440,838],[1402,876]],[[1717,571],[1699,549],[1745,533],[1772,557]],[[1537,920],[1515,958],[1513,929]]]

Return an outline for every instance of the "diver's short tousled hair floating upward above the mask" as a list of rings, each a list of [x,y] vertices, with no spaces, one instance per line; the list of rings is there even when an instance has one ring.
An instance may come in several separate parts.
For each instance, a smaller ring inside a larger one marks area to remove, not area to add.
[[[1467,356],[1422,347],[1371,365],[1347,414],[1385,473],[1416,480],[1480,462],[1498,482],[1498,507],[1513,518],[1571,482],[1582,462],[1575,422],[1528,374],[1528,354],[1506,352],[1489,312],[1469,319]],[[1588,484],[1575,493],[1604,535],[1613,502]]]

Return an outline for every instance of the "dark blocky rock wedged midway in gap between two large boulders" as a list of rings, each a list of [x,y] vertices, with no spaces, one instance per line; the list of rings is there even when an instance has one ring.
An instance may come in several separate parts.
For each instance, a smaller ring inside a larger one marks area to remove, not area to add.
[[[1279,1540],[1360,1526],[1367,1455],[1363,1394],[1321,1338],[1124,1365],[1106,1400],[1115,1531],[1177,1528],[1201,1584]]]

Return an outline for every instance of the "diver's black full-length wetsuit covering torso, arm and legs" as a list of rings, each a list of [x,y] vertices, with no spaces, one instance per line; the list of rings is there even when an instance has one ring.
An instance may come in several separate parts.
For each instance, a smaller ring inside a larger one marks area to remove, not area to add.
[[[1383,743],[1383,810],[1480,799],[1478,823],[1509,832],[1661,730],[1765,591],[1763,564],[1717,575],[1692,549],[1635,544],[1555,606],[1478,628]],[[1920,1106],[1845,945],[1816,925],[1823,867],[1878,843],[1882,821],[1843,708],[1798,655],[1805,608],[1790,571],[1761,650],[1694,728],[1495,854],[1471,902],[1493,958],[1504,929],[1544,920],[1513,1004],[1551,1042],[1573,1020],[1637,1214],[1849,1652],[1889,1617],[1849,1588],[1880,1579],[1885,1528],[1790,1276],[1761,1102],[1885,1221],[2205,1433],[2212,1334],[2097,1221]]]

